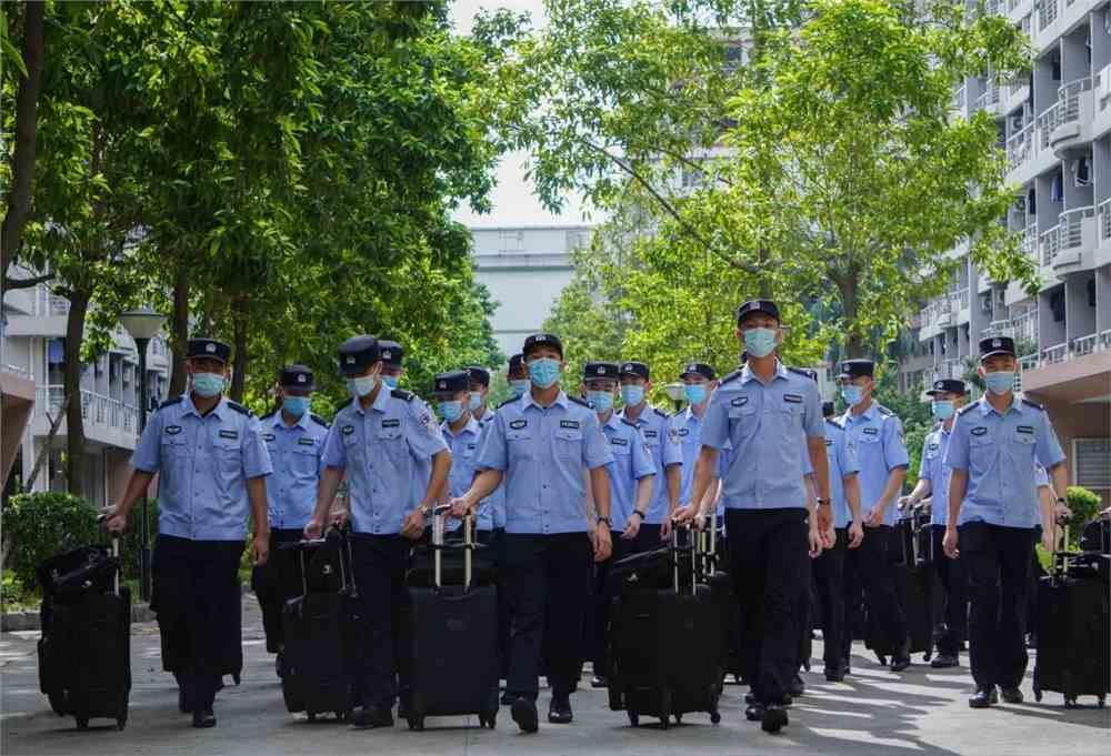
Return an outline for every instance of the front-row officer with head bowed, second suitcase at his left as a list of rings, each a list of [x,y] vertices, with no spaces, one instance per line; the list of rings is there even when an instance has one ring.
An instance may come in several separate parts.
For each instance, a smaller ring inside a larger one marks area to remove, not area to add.
[[[328,432],[317,508],[304,534],[320,536],[346,473],[359,586],[353,607],[360,652],[356,678],[362,697],[351,724],[360,729],[389,727],[396,695],[397,606],[406,561],[447,482],[451,453],[428,406],[408,391],[391,390],[382,382],[382,353],[374,336],[353,336],[340,344],[339,364],[356,397],[336,414]],[[431,476],[413,506],[418,496],[410,487],[421,457],[431,458]]]

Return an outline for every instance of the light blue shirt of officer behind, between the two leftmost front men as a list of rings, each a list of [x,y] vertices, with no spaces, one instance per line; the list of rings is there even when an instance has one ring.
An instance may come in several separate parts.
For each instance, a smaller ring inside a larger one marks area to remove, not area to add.
[[[261,425],[274,468],[267,481],[270,527],[303,530],[317,505],[328,423],[306,412],[289,426],[279,410],[263,417]]]

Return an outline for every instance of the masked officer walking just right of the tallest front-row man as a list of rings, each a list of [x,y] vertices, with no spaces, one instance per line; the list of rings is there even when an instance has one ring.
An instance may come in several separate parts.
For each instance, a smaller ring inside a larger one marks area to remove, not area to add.
[[[864,541],[848,553],[845,578],[850,595],[853,583],[864,586],[868,611],[875,616],[883,641],[891,648],[891,669],[910,666],[907,622],[895,593],[889,550],[895,521],[894,502],[907,478],[910,457],[903,441],[902,423],[890,410],[872,400],[875,363],[871,360],[845,360],[841,363],[841,397],[849,409],[840,425],[849,436],[860,465],[860,504],[864,514]],[[850,604],[845,626],[852,627],[858,611]],[[844,658],[852,651],[852,633],[844,634]]]

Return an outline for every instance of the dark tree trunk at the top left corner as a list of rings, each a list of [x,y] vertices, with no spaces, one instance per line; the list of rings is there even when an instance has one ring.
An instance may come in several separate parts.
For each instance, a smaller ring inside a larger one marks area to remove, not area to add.
[[[41,0],[27,3],[23,13],[23,65],[27,78],[16,95],[16,149],[11,162],[11,193],[8,212],[0,228],[0,293],[8,266],[19,249],[23,228],[31,212],[31,182],[34,178],[34,140],[38,127],[39,90],[42,87],[43,19],[47,6]]]

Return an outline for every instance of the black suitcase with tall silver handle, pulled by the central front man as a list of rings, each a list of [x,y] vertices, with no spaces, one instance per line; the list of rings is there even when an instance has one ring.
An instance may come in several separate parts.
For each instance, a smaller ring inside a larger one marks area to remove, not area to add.
[[[432,521],[433,585],[408,586],[404,693],[410,729],[429,716],[476,714],[493,729],[498,720],[498,589],[472,585],[472,517],[463,518],[463,543],[443,544],[447,506]],[[463,552],[462,585],[443,585],[446,550]]]

